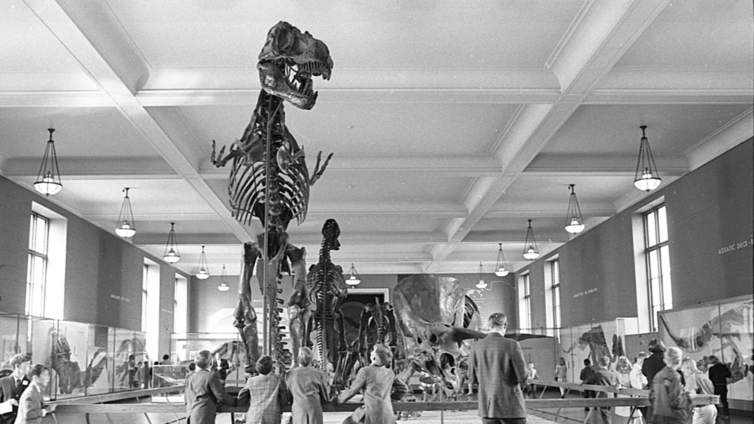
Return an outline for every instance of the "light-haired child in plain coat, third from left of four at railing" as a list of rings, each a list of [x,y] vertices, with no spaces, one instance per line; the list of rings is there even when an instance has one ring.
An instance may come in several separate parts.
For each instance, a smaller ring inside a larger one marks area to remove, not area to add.
[[[299,366],[288,371],[286,386],[293,405],[293,424],[323,424],[322,403],[328,402],[325,374],[311,368],[311,349],[299,349]]]

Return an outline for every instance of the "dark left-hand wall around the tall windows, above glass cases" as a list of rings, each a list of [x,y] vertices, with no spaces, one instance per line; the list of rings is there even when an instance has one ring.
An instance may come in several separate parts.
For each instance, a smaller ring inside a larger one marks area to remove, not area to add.
[[[160,264],[159,338],[161,349],[162,343],[168,349],[175,274],[182,272],[2,176],[0,311],[24,313],[32,202],[66,219],[63,319],[140,331],[143,264],[144,258],[149,258]]]

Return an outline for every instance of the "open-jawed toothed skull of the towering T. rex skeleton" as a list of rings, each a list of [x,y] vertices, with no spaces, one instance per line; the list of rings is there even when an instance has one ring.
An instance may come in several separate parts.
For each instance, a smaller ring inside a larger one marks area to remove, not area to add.
[[[280,21],[267,33],[267,42],[259,53],[256,69],[259,69],[259,81],[266,92],[297,108],[311,109],[317,102],[311,77],[321,76],[329,80],[333,59],[322,41]]]

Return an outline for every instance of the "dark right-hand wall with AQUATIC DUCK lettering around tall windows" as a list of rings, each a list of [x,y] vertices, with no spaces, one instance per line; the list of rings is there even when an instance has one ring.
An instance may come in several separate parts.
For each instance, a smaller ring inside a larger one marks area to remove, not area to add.
[[[673,307],[751,294],[752,181],[749,139],[518,270],[531,274],[532,325],[544,317],[542,270],[555,256],[563,327],[636,316],[633,218],[663,197]]]

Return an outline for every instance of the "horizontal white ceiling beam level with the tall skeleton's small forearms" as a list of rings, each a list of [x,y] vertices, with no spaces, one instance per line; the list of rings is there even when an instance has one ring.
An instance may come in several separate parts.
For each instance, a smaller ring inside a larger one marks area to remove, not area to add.
[[[166,119],[164,116],[160,118]],[[746,128],[746,120],[739,127]],[[164,124],[163,129],[172,133],[175,125]],[[743,135],[745,136],[745,131]],[[173,134],[171,139],[180,134]],[[742,140],[743,141],[743,140]],[[193,145],[193,143],[188,143]],[[194,152],[196,157],[207,156],[206,152]],[[661,175],[682,175],[690,169],[685,156],[656,156]],[[207,159],[207,162],[209,160]],[[162,157],[61,157],[58,159],[63,176],[69,180],[183,178]],[[523,169],[520,175],[506,171],[514,177],[547,177],[557,175],[609,176],[633,175],[636,157],[628,155],[586,154],[538,154]],[[36,178],[37,157],[6,157],[3,172],[12,178]],[[458,157],[339,157],[327,167],[327,172],[402,172],[438,173],[445,177],[474,178],[501,175],[503,161],[493,156]],[[228,169],[199,169],[196,175],[204,180],[225,180]]]

